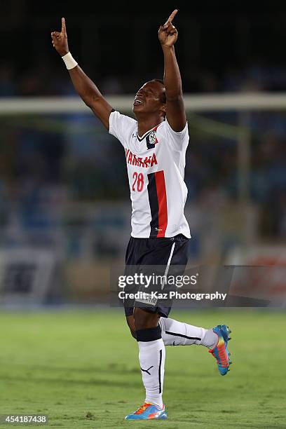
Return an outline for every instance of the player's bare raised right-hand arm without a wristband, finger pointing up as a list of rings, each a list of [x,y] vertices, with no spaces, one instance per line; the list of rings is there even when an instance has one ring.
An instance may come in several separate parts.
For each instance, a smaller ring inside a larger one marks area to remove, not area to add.
[[[182,80],[175,55],[175,43],[178,32],[172,25],[177,9],[171,13],[158,31],[164,55],[164,84],[166,90],[166,117],[174,131],[182,131],[186,125],[186,112],[182,93]]]

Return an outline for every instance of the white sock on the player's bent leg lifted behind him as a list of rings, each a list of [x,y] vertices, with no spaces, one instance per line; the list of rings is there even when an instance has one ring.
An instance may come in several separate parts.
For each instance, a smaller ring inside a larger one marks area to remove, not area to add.
[[[207,348],[214,348],[217,345],[217,334],[212,329],[204,329],[178,322],[170,318],[161,318],[162,339],[165,346],[191,346],[197,344]]]

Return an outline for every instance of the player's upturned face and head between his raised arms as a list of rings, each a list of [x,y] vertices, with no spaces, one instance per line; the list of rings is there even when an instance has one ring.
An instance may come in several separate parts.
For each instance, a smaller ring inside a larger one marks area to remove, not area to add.
[[[138,113],[157,113],[165,110],[163,102],[165,88],[162,83],[150,81],[137,91],[133,103],[133,111],[135,115]]]

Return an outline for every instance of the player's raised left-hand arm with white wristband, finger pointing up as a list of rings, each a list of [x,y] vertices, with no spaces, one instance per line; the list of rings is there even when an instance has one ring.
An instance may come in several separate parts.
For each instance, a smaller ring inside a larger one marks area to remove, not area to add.
[[[74,84],[79,96],[83,102],[93,111],[97,118],[100,118],[103,125],[109,130],[109,115],[111,114],[112,107],[107,100],[102,97],[100,90],[97,88],[95,83],[86,76],[84,71],[79,67],[76,61],[71,57],[69,53],[69,46],[67,43],[67,29],[65,26],[64,18],[62,18],[62,30],[61,32],[52,32],[53,47],[57,50],[57,53],[61,57],[64,57],[64,62],[69,70],[69,76]],[[67,55],[69,54],[69,55]]]

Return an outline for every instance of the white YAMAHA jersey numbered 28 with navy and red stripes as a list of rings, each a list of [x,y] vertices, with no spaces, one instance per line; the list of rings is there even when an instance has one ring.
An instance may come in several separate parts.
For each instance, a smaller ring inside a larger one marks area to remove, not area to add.
[[[125,158],[132,202],[132,233],[135,238],[190,238],[184,205],[188,190],[184,183],[189,132],[175,132],[167,121],[137,133],[137,121],[118,111],[109,116],[109,133],[118,138]]]

